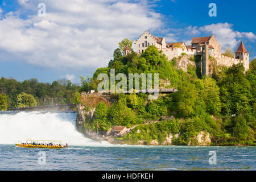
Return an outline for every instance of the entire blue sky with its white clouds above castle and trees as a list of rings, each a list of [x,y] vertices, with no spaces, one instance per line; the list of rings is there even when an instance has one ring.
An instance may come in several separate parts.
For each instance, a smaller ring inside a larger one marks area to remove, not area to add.
[[[46,16],[38,16],[45,3]],[[217,16],[210,17],[210,3]],[[194,36],[214,34],[222,46],[238,48],[241,40],[256,57],[256,1],[0,1],[0,77],[52,82],[92,76],[105,67],[123,38],[144,30],[167,42],[190,44]]]

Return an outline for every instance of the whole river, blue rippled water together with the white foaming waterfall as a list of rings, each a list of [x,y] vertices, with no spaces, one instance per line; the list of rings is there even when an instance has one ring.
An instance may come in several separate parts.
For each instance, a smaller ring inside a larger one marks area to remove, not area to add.
[[[256,169],[255,147],[98,143],[79,133],[75,120],[75,112],[0,112],[0,170]],[[63,140],[69,148],[15,146],[17,140],[26,138]]]

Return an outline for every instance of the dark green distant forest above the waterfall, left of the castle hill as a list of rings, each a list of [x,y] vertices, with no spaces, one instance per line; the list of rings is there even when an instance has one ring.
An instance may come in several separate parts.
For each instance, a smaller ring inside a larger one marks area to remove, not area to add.
[[[71,104],[79,88],[79,85],[72,84],[69,80],[42,83],[34,78],[22,82],[13,78],[0,78],[0,91],[6,94],[8,107],[16,106],[16,98],[22,92],[34,96],[38,105],[45,104],[44,98],[52,98],[54,104]]]

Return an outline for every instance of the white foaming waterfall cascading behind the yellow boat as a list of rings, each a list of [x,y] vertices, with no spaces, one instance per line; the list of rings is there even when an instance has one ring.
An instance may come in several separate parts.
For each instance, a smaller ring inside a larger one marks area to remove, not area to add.
[[[109,146],[85,138],[76,130],[76,115],[72,112],[0,113],[0,144],[14,144],[26,139],[62,140],[73,146]]]

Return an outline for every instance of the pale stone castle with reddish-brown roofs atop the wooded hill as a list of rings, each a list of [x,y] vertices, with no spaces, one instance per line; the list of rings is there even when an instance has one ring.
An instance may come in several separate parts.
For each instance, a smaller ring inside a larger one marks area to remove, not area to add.
[[[233,64],[243,63],[245,70],[249,69],[249,52],[246,51],[243,42],[240,43],[233,57],[221,54],[221,45],[217,42],[214,35],[207,37],[192,38],[191,46],[187,46],[184,42],[166,43],[165,38],[156,38],[149,32],[144,31],[143,34],[135,42],[135,52],[141,54],[148,46],[154,45],[172,60],[179,57],[181,53],[187,55],[201,55],[201,72],[202,75],[209,75],[209,56],[214,57],[217,65],[226,65],[231,67]],[[208,56],[207,56],[208,55]]]

